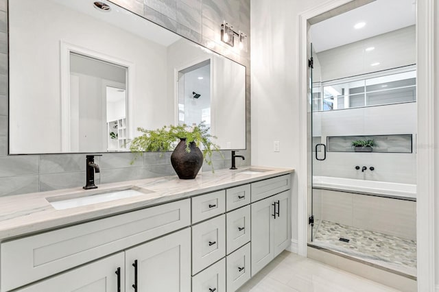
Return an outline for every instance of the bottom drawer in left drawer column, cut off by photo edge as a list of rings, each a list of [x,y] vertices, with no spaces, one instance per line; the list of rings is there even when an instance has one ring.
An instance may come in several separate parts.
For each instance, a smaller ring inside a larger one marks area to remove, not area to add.
[[[192,292],[226,292],[226,259],[192,277]]]

